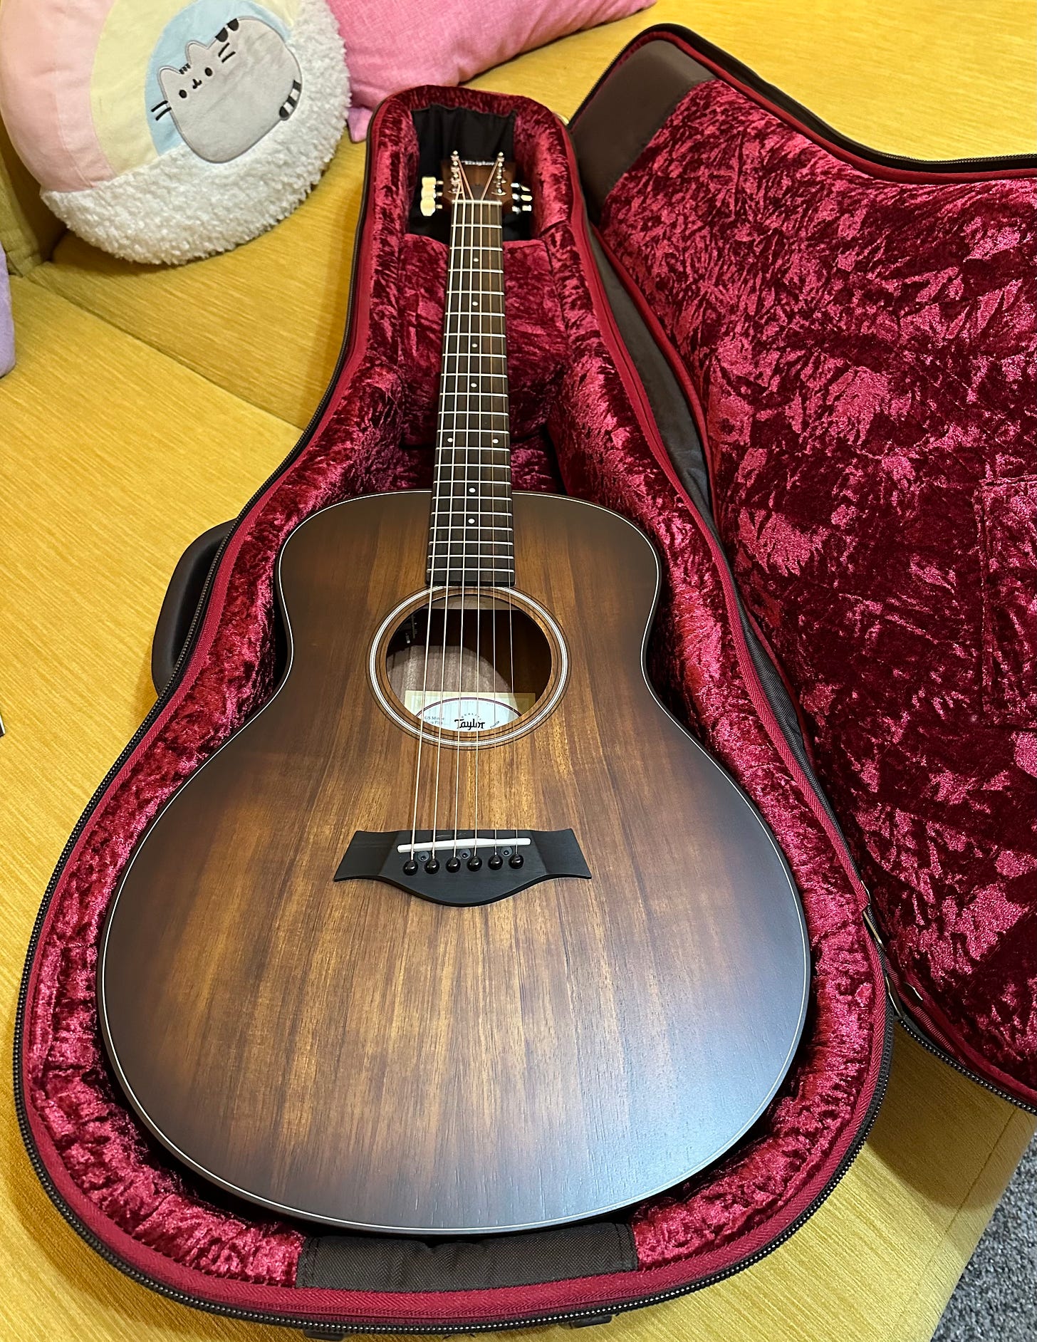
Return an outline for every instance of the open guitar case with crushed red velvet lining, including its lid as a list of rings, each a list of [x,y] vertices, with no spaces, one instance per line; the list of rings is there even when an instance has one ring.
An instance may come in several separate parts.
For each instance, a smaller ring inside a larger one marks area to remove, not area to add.
[[[429,486],[445,248],[415,197],[455,145],[503,150],[534,193],[506,243],[515,484],[655,544],[653,682],[777,835],[813,981],[785,1083],[719,1164],[606,1221],[421,1243],[322,1233],[181,1168],[113,1079],[94,970],[142,829],[276,683],[284,538]],[[1037,1108],[1036,172],[875,153],[676,28],[641,34],[567,127],[466,89],[382,103],[331,384],[181,561],[158,701],[32,934],[21,1129],[102,1257],[313,1337],[594,1323],[804,1224],[875,1119],[895,1020]]]

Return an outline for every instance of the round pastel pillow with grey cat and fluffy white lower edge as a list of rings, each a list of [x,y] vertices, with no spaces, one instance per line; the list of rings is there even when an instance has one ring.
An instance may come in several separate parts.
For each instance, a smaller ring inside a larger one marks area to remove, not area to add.
[[[0,115],[59,219],[185,262],[303,200],[349,107],[327,0],[3,0]]]

